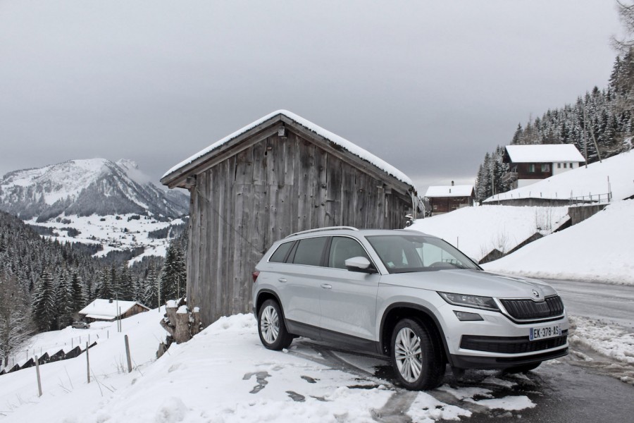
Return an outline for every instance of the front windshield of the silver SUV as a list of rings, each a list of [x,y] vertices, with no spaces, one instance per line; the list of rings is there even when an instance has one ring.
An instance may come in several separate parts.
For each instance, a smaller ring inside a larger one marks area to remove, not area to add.
[[[373,235],[366,238],[391,274],[480,269],[466,255],[438,238],[408,234]]]

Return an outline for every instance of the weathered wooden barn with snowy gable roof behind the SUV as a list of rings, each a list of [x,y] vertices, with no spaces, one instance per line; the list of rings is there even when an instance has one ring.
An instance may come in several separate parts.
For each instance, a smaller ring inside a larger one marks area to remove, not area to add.
[[[402,172],[306,119],[275,111],[171,168],[190,192],[187,302],[203,324],[251,311],[273,241],[324,226],[404,228],[418,197]]]

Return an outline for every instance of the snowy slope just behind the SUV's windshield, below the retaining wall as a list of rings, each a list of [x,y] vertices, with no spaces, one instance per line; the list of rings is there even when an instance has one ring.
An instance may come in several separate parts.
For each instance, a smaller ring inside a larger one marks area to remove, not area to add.
[[[407,229],[435,235],[480,260],[492,250],[509,252],[527,238],[547,235],[568,220],[568,207],[464,207],[418,219]]]

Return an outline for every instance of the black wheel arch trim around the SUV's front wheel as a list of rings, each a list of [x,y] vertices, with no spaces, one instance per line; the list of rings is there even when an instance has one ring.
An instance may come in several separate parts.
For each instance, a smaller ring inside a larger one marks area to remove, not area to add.
[[[440,340],[442,351],[445,353],[445,360],[447,360],[449,364],[452,364],[445,332],[442,330],[442,326],[437,317],[435,317],[433,312],[427,307],[411,302],[395,302],[383,312],[379,331],[379,352],[383,355],[390,355],[390,341],[394,326],[396,326],[398,321],[406,317],[420,321],[421,324],[434,332],[436,338]]]

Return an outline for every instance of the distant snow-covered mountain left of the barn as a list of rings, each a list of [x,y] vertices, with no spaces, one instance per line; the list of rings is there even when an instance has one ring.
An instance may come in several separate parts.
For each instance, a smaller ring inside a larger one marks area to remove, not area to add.
[[[7,173],[0,180],[0,209],[20,219],[144,214],[170,219],[187,214],[188,196],[166,192],[130,160],[70,160]]]

